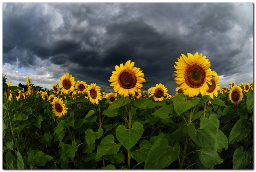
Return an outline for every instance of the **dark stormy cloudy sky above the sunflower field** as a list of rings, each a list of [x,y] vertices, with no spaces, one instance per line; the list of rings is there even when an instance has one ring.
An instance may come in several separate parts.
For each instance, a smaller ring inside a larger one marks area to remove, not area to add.
[[[253,3],[3,3],[3,72],[12,85],[52,89],[66,72],[113,91],[109,77],[127,60],[144,89],[175,95],[173,65],[198,52],[231,81],[253,80]]]

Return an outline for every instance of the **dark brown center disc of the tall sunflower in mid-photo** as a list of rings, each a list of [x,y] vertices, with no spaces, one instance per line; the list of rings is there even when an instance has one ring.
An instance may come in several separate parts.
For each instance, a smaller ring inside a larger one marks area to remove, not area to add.
[[[136,86],[137,77],[132,71],[124,69],[118,75],[118,83],[124,89],[131,89]]]

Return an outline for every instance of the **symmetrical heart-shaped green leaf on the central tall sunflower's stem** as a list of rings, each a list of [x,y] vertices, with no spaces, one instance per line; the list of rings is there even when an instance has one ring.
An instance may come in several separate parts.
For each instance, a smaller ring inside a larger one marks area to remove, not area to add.
[[[140,140],[143,132],[143,125],[136,121],[132,124],[132,129],[126,129],[124,125],[118,125],[116,128],[116,138],[129,150]]]

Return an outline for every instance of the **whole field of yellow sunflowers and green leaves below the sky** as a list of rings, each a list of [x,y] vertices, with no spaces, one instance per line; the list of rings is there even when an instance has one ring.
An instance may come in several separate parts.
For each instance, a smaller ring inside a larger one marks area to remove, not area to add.
[[[108,94],[69,73],[46,91],[3,75],[3,168],[253,169],[253,81],[221,87],[206,56],[177,60],[177,88],[144,90],[128,60]]]

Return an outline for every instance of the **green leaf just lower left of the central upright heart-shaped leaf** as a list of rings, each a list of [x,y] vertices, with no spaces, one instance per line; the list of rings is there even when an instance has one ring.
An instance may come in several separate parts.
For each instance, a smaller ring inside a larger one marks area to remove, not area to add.
[[[101,140],[97,149],[96,159],[102,157],[103,155],[116,154],[119,151],[122,144],[116,144],[114,140],[115,138],[111,134]]]

